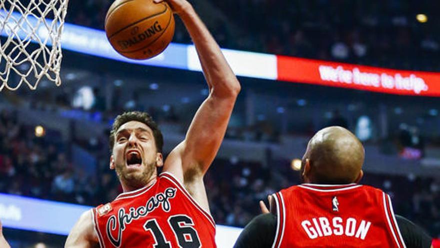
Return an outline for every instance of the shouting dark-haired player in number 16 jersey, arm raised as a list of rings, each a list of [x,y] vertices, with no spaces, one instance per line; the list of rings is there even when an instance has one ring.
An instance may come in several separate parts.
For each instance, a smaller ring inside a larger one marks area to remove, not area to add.
[[[209,96],[185,139],[164,161],[162,135],[146,113],[116,118],[109,166],[124,193],[83,213],[65,247],[215,247],[203,176],[223,139],[240,84],[192,6],[186,0],[166,2],[195,44]]]

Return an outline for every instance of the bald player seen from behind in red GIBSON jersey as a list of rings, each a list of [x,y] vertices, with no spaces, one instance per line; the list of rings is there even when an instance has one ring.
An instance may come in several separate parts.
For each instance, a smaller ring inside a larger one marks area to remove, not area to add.
[[[348,130],[318,131],[302,157],[303,184],[269,196],[270,212],[260,201],[263,214],[234,247],[432,247],[431,237],[394,215],[386,193],[357,184],[363,160],[363,146]]]

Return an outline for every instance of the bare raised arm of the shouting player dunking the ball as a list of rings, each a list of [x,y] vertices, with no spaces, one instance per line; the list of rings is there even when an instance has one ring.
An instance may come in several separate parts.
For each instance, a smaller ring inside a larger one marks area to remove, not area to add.
[[[155,0],[160,2],[160,0]],[[183,21],[195,44],[204,76],[209,86],[209,96],[196,112],[185,140],[168,156],[165,170],[176,168],[181,159],[185,177],[202,177],[212,160],[226,131],[240,84],[227,64],[217,43],[185,0],[167,0]],[[178,169],[178,168],[177,168]],[[181,173],[175,173],[177,176]]]

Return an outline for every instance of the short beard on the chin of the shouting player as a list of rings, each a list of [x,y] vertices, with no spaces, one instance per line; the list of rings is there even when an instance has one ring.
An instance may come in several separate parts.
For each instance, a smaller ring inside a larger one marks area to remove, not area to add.
[[[156,172],[156,163],[142,164],[142,171],[126,172],[125,164],[115,166],[119,180],[130,188],[142,188],[148,184],[151,176]]]

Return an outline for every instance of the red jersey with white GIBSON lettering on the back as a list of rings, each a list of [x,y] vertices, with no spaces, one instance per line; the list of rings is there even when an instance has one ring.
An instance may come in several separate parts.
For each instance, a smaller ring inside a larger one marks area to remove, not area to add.
[[[272,248],[405,247],[389,196],[358,184],[301,184],[273,194]]]

